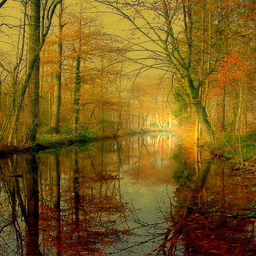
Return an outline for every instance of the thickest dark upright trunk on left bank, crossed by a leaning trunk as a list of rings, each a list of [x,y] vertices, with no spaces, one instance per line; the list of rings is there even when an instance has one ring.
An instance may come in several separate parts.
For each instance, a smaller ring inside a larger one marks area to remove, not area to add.
[[[29,38],[28,38],[28,58],[31,61],[40,45],[40,6],[41,0],[31,0],[30,4],[30,21],[29,21]],[[36,55],[36,62],[28,86],[28,129],[24,139],[25,144],[34,144],[38,131],[38,114],[39,114],[39,85],[40,85],[40,58],[39,53]]]

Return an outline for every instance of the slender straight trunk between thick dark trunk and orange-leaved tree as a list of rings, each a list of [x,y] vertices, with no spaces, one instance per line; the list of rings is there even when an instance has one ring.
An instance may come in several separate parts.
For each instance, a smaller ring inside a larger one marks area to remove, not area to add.
[[[61,105],[61,76],[62,76],[62,55],[63,55],[63,43],[62,43],[62,31],[63,31],[63,2],[60,3],[60,11],[58,17],[58,73],[56,73],[56,82],[53,93],[53,110],[50,122],[50,127],[53,132],[58,133],[60,128],[60,105]]]

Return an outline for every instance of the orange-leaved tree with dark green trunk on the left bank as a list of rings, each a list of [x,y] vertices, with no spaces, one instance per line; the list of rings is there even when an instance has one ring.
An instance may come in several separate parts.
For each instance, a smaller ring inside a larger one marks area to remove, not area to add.
[[[112,116],[107,117],[118,105],[113,97],[118,93],[114,83],[122,73],[117,66],[122,63],[118,57],[122,49],[115,45],[112,36],[101,31],[100,22],[88,16],[84,6],[80,6],[79,14],[68,14],[65,18],[63,80],[68,81],[72,106],[70,102],[63,104],[69,103],[68,108],[72,108],[71,125],[75,133],[80,124],[84,122],[87,126],[92,118],[94,129],[105,129],[107,122],[112,124]]]

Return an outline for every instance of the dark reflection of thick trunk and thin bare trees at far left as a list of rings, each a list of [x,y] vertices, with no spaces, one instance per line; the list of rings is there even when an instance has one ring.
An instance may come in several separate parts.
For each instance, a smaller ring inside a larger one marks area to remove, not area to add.
[[[18,166],[23,166],[22,174]],[[12,156],[1,160],[1,185],[4,188],[1,189],[4,199],[2,202],[5,203],[1,219],[7,222],[9,220],[9,223],[1,228],[1,239],[4,241],[6,254],[23,255],[26,247],[26,255],[42,255],[38,245],[39,201],[36,154],[26,154],[21,158]],[[26,224],[26,230],[23,230],[21,216]],[[16,251],[11,247],[15,238]],[[26,246],[23,240],[26,240]]]

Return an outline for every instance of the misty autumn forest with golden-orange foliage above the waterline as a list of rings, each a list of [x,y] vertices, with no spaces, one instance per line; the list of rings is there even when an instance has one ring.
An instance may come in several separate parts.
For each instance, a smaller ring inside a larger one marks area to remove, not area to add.
[[[12,2],[1,145],[181,125],[214,143],[255,129],[254,1]]]

